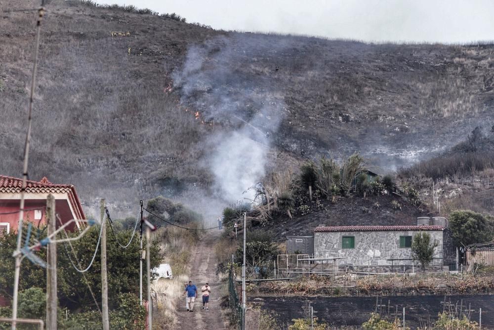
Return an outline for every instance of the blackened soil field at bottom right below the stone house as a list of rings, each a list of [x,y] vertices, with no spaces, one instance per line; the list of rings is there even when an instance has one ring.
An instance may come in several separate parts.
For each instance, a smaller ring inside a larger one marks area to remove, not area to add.
[[[445,300],[446,299],[446,300]],[[383,317],[393,320],[397,317],[403,320],[405,307],[405,324],[416,329],[430,324],[437,319],[438,313],[443,312],[444,301],[453,304],[453,312],[471,309],[470,319],[479,322],[479,309],[482,308],[482,328],[494,329],[494,296],[415,296],[415,297],[315,297],[315,298],[255,298],[249,297],[250,303],[260,305],[274,316],[279,325],[290,324],[292,319],[302,318],[302,306],[310,301],[314,308],[314,316],[334,327],[360,327],[369,320],[370,314],[376,310],[376,301],[382,306],[380,313]],[[388,314],[389,304],[389,314]],[[457,305],[457,306],[456,306]],[[447,308],[448,309],[448,308]],[[379,308],[377,309],[379,311]],[[467,312],[468,313],[468,312]]]

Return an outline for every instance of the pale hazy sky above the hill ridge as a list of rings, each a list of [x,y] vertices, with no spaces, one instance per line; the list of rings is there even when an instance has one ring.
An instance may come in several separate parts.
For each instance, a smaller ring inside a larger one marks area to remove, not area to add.
[[[99,0],[175,12],[215,29],[365,41],[494,40],[494,0]]]

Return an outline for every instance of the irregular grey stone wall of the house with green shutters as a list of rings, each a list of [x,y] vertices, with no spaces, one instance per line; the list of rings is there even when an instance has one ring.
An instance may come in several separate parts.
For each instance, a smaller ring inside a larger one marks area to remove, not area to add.
[[[409,259],[412,258],[411,248],[400,248],[400,236],[414,236],[418,231],[386,231],[386,232],[322,232],[314,233],[314,255],[315,257],[348,257],[339,259],[338,265],[348,266],[391,266],[412,265],[412,260],[387,259]],[[435,249],[435,258],[443,257],[443,232],[427,231],[432,239],[438,242]],[[354,236],[355,248],[342,249],[342,236]],[[370,262],[370,263],[369,263]],[[441,264],[442,259],[433,259],[431,265]]]

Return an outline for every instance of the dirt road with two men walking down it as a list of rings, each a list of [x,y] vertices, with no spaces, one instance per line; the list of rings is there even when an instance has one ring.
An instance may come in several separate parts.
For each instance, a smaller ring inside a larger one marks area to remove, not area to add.
[[[192,267],[189,279],[198,288],[198,297],[194,303],[194,311],[185,309],[185,297],[177,304],[177,329],[227,329],[223,323],[220,307],[220,280],[216,275],[216,256],[214,243],[219,237],[219,231],[207,233],[192,251]],[[209,311],[203,311],[201,287],[205,283],[211,286]]]

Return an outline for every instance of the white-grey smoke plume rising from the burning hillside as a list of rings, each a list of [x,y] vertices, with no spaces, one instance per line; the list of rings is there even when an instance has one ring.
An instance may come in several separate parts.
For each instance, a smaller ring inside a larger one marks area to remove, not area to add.
[[[254,186],[265,176],[267,154],[283,118],[283,93],[273,86],[277,70],[252,60],[285,47],[235,34],[190,47],[180,71],[173,74],[183,106],[200,111],[213,122],[216,134],[206,144],[204,160],[215,189],[227,202],[253,198]],[[259,72],[253,75],[252,72]],[[217,127],[217,129],[216,129]],[[226,129],[225,129],[226,128]]]

